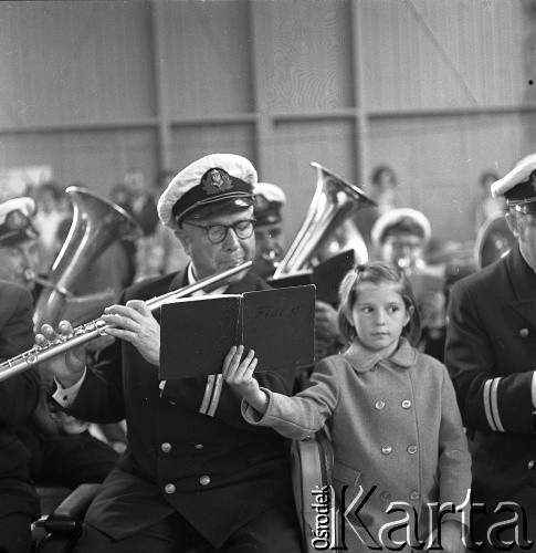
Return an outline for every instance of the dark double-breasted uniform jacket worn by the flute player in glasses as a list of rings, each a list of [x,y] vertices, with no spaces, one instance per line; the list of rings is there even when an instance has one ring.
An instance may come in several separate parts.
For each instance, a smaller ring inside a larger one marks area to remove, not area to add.
[[[145,281],[128,289],[122,302],[148,300],[186,283],[186,271]],[[250,273],[227,293],[266,288]],[[180,363],[188,359],[178,358]],[[292,392],[292,369],[256,377],[266,388]],[[243,420],[240,399],[221,375],[221,396],[213,400],[216,379],[168,380],[161,390],[158,367],[128,342],[116,341],[102,352],[70,413],[95,422],[126,418],[128,449],[94,501],[87,523],[123,539],[178,511],[219,546],[274,503],[293,501],[287,444],[274,430]]]

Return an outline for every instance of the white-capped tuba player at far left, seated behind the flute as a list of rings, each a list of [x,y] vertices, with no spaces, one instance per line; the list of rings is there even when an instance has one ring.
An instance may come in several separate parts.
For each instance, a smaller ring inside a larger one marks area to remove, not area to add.
[[[29,270],[36,271],[40,262],[34,213],[31,198],[0,204],[0,278],[22,284],[36,301],[40,286],[27,274]],[[28,348],[31,346],[32,343]],[[93,438],[81,421],[64,417],[63,413],[59,413],[56,420],[43,409],[40,403],[32,420],[17,427],[19,438],[31,453],[32,479],[40,484],[71,489],[84,482],[102,482],[114,467],[117,453]]]

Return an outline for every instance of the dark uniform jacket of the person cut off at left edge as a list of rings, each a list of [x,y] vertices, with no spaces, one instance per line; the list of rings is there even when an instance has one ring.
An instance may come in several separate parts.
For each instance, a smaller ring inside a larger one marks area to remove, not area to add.
[[[33,345],[30,292],[0,281],[0,362]],[[33,369],[0,382],[0,517],[25,512],[39,517],[39,498],[29,478],[30,453],[14,428],[28,419],[39,400],[39,373]]]

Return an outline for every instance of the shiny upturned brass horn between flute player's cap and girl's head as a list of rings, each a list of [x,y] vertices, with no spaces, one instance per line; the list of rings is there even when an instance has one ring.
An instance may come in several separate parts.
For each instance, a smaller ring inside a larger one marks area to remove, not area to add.
[[[307,210],[305,221],[278,263],[273,279],[278,279],[309,267],[324,250],[327,258],[353,248],[359,263],[368,260],[367,247],[359,230],[349,217],[362,207],[376,206],[360,188],[338,177],[317,163],[316,190]],[[340,237],[337,234],[341,234]]]

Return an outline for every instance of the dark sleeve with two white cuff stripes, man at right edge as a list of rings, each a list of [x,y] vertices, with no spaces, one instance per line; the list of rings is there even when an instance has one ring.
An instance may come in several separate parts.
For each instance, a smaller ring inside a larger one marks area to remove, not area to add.
[[[536,330],[523,312],[534,302],[519,310],[524,302],[508,291],[507,263],[500,263],[454,285],[445,365],[467,428],[533,435]]]

